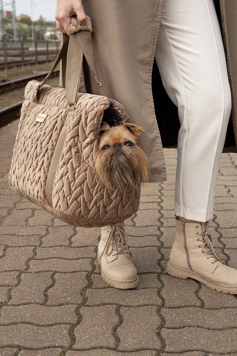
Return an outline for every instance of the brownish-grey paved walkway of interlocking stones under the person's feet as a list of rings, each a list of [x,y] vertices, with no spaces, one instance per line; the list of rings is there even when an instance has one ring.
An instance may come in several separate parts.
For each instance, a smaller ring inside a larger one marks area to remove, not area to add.
[[[177,152],[126,220],[139,287],[101,279],[99,228],[68,226],[8,185],[17,122],[0,129],[0,356],[237,355],[237,298],[166,274]],[[199,172],[205,174],[205,172]],[[222,155],[210,232],[237,268],[237,154]]]

